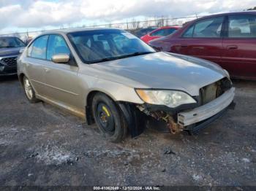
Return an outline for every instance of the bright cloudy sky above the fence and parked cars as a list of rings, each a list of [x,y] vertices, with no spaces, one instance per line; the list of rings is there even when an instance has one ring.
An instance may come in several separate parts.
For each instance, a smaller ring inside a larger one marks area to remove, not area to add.
[[[0,0],[0,32],[240,11],[255,0]]]

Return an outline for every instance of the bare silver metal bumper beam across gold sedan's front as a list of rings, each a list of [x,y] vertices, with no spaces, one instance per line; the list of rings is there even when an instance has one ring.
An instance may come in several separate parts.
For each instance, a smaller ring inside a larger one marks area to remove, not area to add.
[[[233,102],[234,96],[235,87],[232,87],[223,95],[219,96],[219,98],[216,98],[214,101],[211,101],[206,105],[192,109],[189,112],[178,113],[178,124],[188,126],[207,120],[227,108],[227,106]]]

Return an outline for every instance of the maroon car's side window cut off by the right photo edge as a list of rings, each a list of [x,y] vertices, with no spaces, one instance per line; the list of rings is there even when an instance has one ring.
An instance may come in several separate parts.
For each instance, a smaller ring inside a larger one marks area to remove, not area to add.
[[[229,16],[228,37],[256,38],[256,16],[253,16],[253,15]]]

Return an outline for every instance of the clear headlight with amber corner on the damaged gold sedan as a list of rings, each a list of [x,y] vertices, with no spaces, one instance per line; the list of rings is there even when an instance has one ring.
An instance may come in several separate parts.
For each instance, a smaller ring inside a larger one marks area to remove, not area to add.
[[[183,104],[197,103],[195,99],[187,93],[176,90],[137,89],[136,92],[140,98],[148,104],[165,105],[173,108]]]

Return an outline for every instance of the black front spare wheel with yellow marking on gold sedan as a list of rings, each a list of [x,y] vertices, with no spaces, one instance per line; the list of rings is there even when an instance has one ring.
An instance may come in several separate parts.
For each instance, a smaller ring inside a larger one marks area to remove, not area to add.
[[[127,122],[116,103],[104,93],[97,93],[92,99],[94,120],[106,139],[120,142],[127,135]]]

